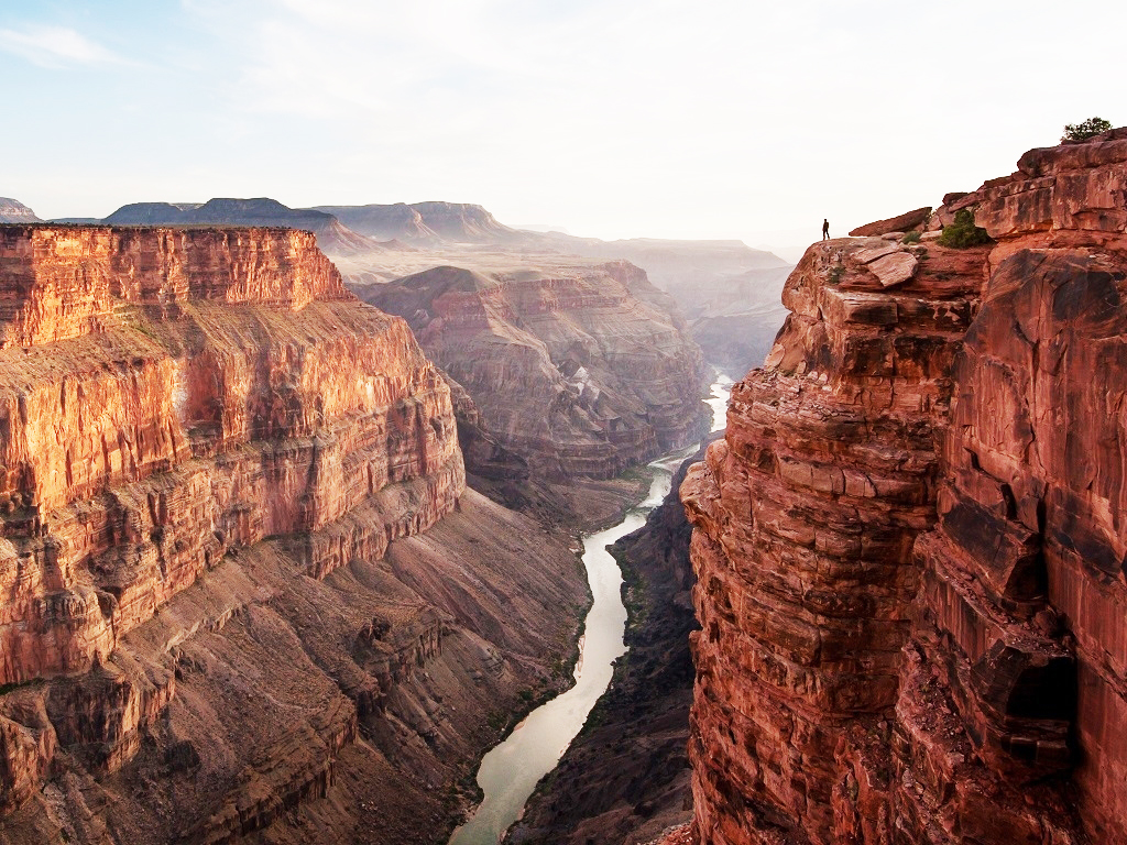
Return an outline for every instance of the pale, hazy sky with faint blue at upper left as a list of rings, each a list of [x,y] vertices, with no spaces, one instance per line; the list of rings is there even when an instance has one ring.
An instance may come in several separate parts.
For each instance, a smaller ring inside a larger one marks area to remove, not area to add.
[[[0,196],[445,199],[780,249],[1127,124],[1127,5],[0,0]]]

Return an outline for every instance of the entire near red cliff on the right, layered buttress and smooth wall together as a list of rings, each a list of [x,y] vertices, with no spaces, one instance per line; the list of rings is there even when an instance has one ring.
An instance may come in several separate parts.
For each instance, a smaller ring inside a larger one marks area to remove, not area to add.
[[[996,244],[791,276],[682,488],[698,842],[1127,839],[1125,179],[1035,150],[940,210]]]

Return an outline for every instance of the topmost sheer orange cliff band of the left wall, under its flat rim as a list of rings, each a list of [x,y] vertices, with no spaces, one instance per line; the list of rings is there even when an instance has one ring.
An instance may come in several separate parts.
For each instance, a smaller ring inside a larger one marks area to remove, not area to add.
[[[340,275],[308,232],[7,225],[0,230],[0,345],[95,331],[115,305],[188,300],[301,309],[345,300]]]

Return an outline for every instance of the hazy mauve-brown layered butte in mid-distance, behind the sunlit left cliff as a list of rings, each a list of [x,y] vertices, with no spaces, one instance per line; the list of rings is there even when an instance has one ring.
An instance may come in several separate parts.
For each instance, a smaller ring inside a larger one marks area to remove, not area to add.
[[[362,296],[407,319],[541,477],[611,478],[708,430],[700,350],[627,263],[550,276],[437,267]]]

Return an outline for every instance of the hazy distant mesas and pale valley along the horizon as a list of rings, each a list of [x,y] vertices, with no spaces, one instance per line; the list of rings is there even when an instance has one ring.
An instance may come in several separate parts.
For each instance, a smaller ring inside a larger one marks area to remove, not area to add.
[[[30,210],[0,208],[0,220],[24,222]],[[25,216],[21,216],[25,215]],[[452,266],[485,275],[585,273],[607,260],[641,267],[668,293],[706,358],[739,377],[770,350],[786,310],[782,284],[792,265],[739,241],[633,239],[602,241],[561,232],[513,229],[479,205],[407,205],[289,208],[273,199],[206,203],[136,203],[104,220],[115,225],[266,225],[307,229],[354,290]]]

